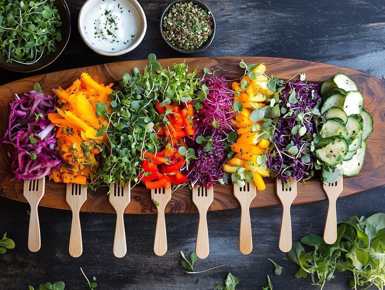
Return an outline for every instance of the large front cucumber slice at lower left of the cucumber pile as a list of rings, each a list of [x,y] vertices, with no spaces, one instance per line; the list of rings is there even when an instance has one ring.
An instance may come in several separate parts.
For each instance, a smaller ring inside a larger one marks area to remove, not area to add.
[[[348,154],[349,144],[344,137],[321,138],[315,150],[317,158],[328,166],[335,166]]]

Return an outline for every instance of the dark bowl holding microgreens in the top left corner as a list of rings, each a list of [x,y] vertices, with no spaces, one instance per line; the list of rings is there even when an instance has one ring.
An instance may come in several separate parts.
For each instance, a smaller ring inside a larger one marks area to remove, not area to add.
[[[62,22],[62,25],[60,26],[62,40],[57,43],[56,51],[50,55],[45,55],[34,64],[20,64],[15,61],[12,63],[7,62],[7,57],[0,55],[1,67],[4,69],[12,70],[14,72],[35,72],[52,64],[52,62],[54,62],[55,59],[59,57],[70,38],[71,20],[70,10],[67,6],[67,3],[65,3],[65,0],[55,0],[55,5],[60,14],[60,21]]]

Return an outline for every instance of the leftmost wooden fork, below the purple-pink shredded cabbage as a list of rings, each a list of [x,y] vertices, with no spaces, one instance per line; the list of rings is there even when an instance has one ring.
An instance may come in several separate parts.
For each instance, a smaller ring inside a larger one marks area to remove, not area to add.
[[[37,206],[44,195],[45,177],[33,180],[24,180],[23,195],[31,206],[28,231],[28,249],[37,252],[40,249],[40,226]]]

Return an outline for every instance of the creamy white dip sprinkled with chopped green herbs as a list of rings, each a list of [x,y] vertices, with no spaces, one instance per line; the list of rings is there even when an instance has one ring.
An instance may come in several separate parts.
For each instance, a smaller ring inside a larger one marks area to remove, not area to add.
[[[101,0],[84,19],[85,36],[105,52],[126,49],[136,41],[142,29],[141,15],[128,0]]]

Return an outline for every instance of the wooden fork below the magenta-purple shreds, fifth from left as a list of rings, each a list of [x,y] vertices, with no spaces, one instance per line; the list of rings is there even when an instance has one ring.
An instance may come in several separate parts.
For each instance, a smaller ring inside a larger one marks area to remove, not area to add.
[[[199,259],[209,255],[209,231],[207,228],[207,211],[214,200],[214,188],[192,188],[192,201],[199,211],[198,231],[196,234],[195,252]]]

